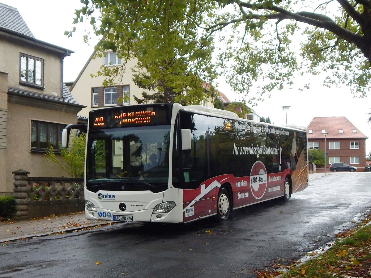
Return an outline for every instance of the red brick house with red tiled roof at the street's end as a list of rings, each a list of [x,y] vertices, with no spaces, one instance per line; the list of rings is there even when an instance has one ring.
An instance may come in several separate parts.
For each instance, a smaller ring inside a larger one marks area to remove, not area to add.
[[[347,118],[315,117],[307,127],[307,138],[308,149],[326,151],[329,164],[344,162],[364,171],[368,137]]]

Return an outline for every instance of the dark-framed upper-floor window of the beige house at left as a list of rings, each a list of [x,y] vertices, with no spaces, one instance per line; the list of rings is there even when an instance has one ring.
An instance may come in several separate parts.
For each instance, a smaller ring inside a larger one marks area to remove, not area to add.
[[[44,60],[20,54],[19,81],[41,87],[43,85]]]

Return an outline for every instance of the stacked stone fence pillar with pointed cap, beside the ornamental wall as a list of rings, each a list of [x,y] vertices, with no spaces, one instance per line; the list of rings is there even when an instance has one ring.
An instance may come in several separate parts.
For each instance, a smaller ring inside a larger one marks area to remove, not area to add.
[[[14,192],[13,197],[16,201],[14,219],[25,219],[28,217],[28,174],[30,172],[19,169],[12,172],[14,174]]]

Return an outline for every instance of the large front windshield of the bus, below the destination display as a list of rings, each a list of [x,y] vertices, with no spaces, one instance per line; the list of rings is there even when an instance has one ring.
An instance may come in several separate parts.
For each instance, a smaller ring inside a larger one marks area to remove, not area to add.
[[[168,185],[170,125],[98,129],[89,133],[89,191],[161,192]]]

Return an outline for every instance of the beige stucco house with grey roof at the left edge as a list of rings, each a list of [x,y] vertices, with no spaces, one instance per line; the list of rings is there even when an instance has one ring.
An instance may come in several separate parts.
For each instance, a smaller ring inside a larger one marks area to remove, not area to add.
[[[0,3],[0,195],[13,191],[13,171],[66,176],[46,160],[61,131],[77,122],[80,105],[63,83],[63,59],[73,51],[37,40],[19,11]]]

